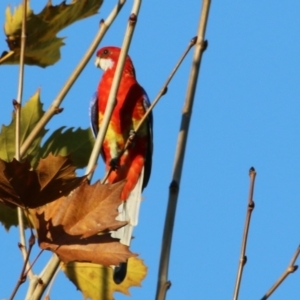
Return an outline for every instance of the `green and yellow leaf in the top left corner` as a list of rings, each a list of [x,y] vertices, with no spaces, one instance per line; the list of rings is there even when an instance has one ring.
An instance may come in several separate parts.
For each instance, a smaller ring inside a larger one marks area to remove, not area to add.
[[[68,5],[65,2],[52,5],[48,1],[39,14],[34,14],[27,2],[25,64],[47,67],[56,63],[60,59],[60,47],[64,45],[63,38],[56,34],[70,24],[96,14],[103,0],[73,0]],[[4,30],[11,51],[0,58],[0,64],[19,63],[22,11],[22,4],[14,13],[10,7],[6,9]]]

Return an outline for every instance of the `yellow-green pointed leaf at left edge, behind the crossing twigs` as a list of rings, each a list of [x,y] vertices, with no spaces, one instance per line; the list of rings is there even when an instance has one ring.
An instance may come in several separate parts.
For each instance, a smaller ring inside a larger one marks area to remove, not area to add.
[[[22,144],[33,130],[36,123],[44,115],[42,103],[40,102],[40,90],[29,99],[27,103],[21,108],[21,123],[20,123],[20,143]],[[0,158],[5,161],[11,161],[15,155],[15,116],[13,115],[12,122],[8,125],[2,125],[0,133]],[[36,139],[33,141],[27,151],[30,157],[36,157],[39,149],[41,139],[47,130],[43,129]]]

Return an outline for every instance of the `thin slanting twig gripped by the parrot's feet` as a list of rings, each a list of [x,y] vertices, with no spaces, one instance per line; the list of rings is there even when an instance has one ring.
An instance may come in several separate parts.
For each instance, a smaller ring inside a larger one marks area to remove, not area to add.
[[[185,59],[186,55],[189,53],[189,51],[191,50],[191,48],[196,44],[196,41],[197,41],[197,37],[194,37],[193,39],[191,39],[190,43],[188,44],[188,46],[185,49],[184,53],[182,54],[182,56],[178,60],[177,64],[175,65],[175,67],[171,71],[171,74],[167,78],[166,82],[164,83],[163,87],[159,91],[158,95],[152,101],[152,104],[150,105],[150,107],[146,111],[145,115],[143,116],[143,118],[138,123],[138,125],[135,128],[133,134],[128,137],[128,139],[127,139],[127,141],[125,143],[124,148],[122,149],[122,151],[119,152],[118,156],[116,157],[117,160],[119,160],[121,158],[121,156],[126,152],[126,150],[131,146],[131,144],[133,143],[133,141],[134,141],[137,133],[139,132],[139,130],[142,127],[142,125],[145,122],[145,120],[147,120],[149,114],[152,112],[152,110],[154,109],[155,105],[158,103],[158,101],[161,99],[161,97],[164,96],[167,93],[167,91],[168,91],[168,85],[169,85],[170,81],[174,77],[174,75],[177,72],[178,68],[180,67],[181,63]],[[104,178],[102,179],[102,183],[106,182],[106,180],[109,177],[109,175],[110,175],[111,172],[112,172],[112,167],[110,167],[110,169],[108,170],[108,172],[106,172]]]

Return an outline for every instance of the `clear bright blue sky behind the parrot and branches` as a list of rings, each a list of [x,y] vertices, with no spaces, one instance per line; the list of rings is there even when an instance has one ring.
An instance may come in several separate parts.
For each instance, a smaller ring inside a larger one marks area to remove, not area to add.
[[[46,1],[31,1],[39,12]],[[7,4],[0,2],[0,23]],[[59,1],[53,1],[58,4]],[[41,88],[44,109],[81,59],[115,1],[99,14],[62,31],[61,60],[25,68],[24,101]],[[201,1],[143,1],[130,56],[138,81],[154,99],[196,35]],[[120,46],[132,1],[101,45]],[[282,274],[300,243],[300,2],[212,1],[174,228],[167,299],[230,299],[233,295],[249,190],[257,171],[240,299],[260,299]],[[5,35],[0,50],[7,49]],[[173,159],[192,52],[154,111],[152,176],[144,191],[132,250],[149,267],[132,299],[154,299]],[[47,128],[89,126],[88,105],[102,75],[90,61]],[[11,120],[17,96],[17,66],[0,67],[0,123]],[[103,175],[102,162],[97,176]],[[0,299],[9,297],[21,268],[17,230],[0,226]],[[45,255],[41,262],[46,261]],[[300,259],[298,259],[300,263]],[[37,270],[38,271],[38,270]],[[300,271],[272,296],[300,299]],[[23,299],[24,286],[16,299]],[[128,299],[116,294],[117,300]],[[51,299],[81,299],[61,273]]]

